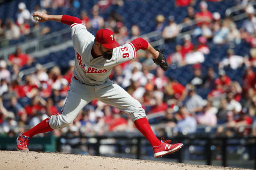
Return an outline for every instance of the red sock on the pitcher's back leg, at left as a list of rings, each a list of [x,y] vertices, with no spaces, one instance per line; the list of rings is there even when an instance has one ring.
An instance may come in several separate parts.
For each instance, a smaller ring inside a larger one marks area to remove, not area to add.
[[[49,125],[49,117],[45,118],[42,122],[38,123],[34,128],[30,129],[27,132],[24,132],[23,135],[32,138],[34,135],[38,133],[45,133],[52,131],[53,129]]]

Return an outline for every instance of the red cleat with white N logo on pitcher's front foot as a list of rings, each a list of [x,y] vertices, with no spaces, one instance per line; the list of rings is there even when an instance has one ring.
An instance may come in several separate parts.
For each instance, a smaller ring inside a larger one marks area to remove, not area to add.
[[[170,144],[170,140],[164,140],[161,138],[162,143],[157,147],[153,147],[154,157],[162,157],[167,154],[173,154],[175,151],[178,151],[180,148],[183,147],[183,143],[174,143]]]

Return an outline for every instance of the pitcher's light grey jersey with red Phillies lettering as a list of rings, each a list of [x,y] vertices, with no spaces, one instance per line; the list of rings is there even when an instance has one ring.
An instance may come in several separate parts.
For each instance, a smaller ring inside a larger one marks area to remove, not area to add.
[[[71,24],[71,37],[75,50],[75,67],[73,76],[90,86],[105,83],[114,66],[133,60],[136,52],[132,43],[113,49],[113,56],[106,60],[103,56],[93,58],[91,54],[95,37],[83,23]]]

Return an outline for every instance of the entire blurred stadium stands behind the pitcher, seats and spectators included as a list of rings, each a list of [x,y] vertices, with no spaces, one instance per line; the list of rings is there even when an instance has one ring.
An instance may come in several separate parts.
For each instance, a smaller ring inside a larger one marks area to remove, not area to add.
[[[246,143],[255,144],[251,137],[256,136],[254,7],[256,2],[249,0],[1,1],[0,149],[15,149],[7,139],[60,112],[67,97],[75,57],[70,28],[33,21],[31,14],[40,10],[77,16],[92,33],[112,29],[119,44],[141,36],[163,48],[170,64],[167,72],[139,51],[134,61],[116,66],[110,79],[141,102],[159,137],[194,137],[194,142],[223,137],[229,143],[245,143],[227,147],[228,166],[253,168],[256,149]],[[139,135],[129,116],[94,100],[67,128],[37,137],[41,144],[47,137],[55,139],[58,151],[93,155],[95,148],[86,145],[95,140],[92,137],[117,134]],[[82,138],[87,135],[90,138]],[[134,158],[134,147],[125,146],[129,141],[104,142],[124,146],[101,146],[101,155]],[[143,143],[142,158],[154,159]],[[45,148],[34,143],[31,149]],[[221,148],[210,149],[213,164],[220,165]],[[204,164],[204,144],[183,150],[185,162]],[[174,159],[177,156],[161,160]]]

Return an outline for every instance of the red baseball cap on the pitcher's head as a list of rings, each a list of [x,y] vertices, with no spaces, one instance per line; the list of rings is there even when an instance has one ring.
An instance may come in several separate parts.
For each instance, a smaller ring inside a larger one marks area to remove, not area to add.
[[[102,46],[113,49],[120,45],[116,43],[113,31],[109,29],[100,29],[96,32],[95,41],[102,44]]]

